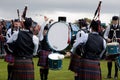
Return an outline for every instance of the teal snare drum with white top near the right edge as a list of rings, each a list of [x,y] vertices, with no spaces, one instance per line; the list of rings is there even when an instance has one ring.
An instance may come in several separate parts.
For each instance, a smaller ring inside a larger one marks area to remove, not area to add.
[[[119,43],[112,42],[107,44],[107,53],[108,55],[114,55],[120,53]]]

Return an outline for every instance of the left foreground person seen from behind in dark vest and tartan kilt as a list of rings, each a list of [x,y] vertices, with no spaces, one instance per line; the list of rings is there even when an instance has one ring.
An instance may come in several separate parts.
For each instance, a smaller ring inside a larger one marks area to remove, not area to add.
[[[12,47],[14,61],[14,71],[12,80],[34,80],[33,53],[38,49],[39,39],[30,31],[32,19],[25,18],[25,28],[13,33],[7,41]]]

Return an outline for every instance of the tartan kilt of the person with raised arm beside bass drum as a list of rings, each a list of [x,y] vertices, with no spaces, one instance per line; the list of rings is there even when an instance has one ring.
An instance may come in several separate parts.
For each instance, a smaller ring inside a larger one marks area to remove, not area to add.
[[[40,53],[38,54],[39,60],[37,65],[41,67],[48,67],[48,55],[50,53],[51,51],[40,51]]]

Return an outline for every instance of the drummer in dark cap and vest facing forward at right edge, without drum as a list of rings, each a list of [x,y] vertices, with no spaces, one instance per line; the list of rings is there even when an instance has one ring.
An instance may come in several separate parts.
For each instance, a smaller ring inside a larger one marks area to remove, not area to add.
[[[106,28],[104,38],[107,40],[108,43],[112,42],[112,38],[114,35],[113,30],[115,30],[115,32],[116,32],[115,37],[120,38],[120,26],[119,26],[119,17],[118,16],[113,16],[112,17],[112,24]],[[119,41],[119,39],[117,39],[117,41]],[[108,68],[107,78],[111,78],[112,61],[114,61],[115,59],[111,56],[107,57],[107,58],[109,59],[107,62],[107,68]],[[118,68],[117,68],[116,63],[115,63],[114,78],[115,79],[118,78]]]

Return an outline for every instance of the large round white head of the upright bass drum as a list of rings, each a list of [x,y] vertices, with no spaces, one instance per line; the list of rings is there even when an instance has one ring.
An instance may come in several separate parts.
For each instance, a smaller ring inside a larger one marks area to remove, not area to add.
[[[69,45],[71,29],[64,22],[53,23],[47,34],[48,44],[55,51],[62,51]]]

